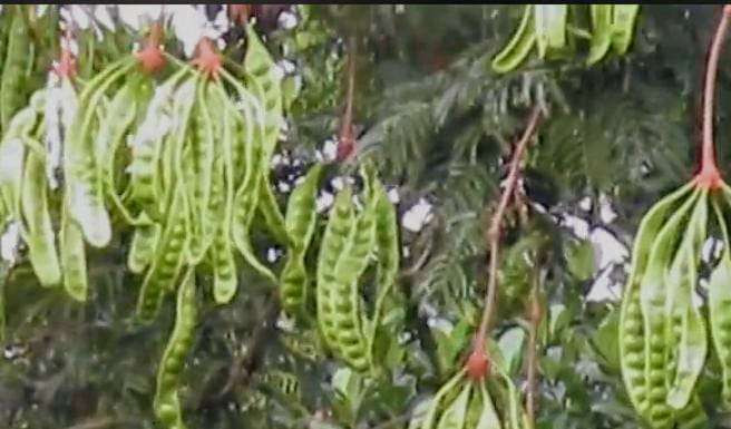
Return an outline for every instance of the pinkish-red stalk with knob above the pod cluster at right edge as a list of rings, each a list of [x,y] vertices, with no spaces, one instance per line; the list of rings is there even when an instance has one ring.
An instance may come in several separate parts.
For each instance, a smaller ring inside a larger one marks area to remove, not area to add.
[[[729,30],[729,17],[731,16],[731,4],[723,7],[721,21],[715,29],[711,50],[705,67],[705,82],[703,89],[703,140],[701,149],[701,168],[695,176],[698,186],[706,189],[715,189],[721,186],[721,173],[715,164],[715,153],[713,144],[713,100],[715,96],[715,76],[719,69],[719,59],[723,39]]]

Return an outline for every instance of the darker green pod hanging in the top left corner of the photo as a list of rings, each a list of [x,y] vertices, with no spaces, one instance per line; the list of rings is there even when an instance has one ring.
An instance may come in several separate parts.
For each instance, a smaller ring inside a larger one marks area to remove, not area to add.
[[[0,77],[0,123],[3,133],[10,125],[10,119],[25,104],[25,80],[28,52],[31,51],[31,39],[23,18],[21,6],[12,7],[12,19],[8,35],[6,57],[2,58],[2,77]]]

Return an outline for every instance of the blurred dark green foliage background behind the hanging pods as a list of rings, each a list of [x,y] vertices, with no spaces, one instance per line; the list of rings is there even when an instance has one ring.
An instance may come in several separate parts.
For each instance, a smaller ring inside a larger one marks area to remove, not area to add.
[[[59,35],[51,29],[69,8],[50,6],[31,19],[42,48],[29,66],[29,92],[45,85],[58,55]],[[74,8],[92,17],[103,7]],[[94,22],[76,31],[82,79],[143,38],[119,20],[117,8],[124,7],[106,8],[114,28]],[[224,52],[240,60],[244,33],[230,26],[226,8],[195,8],[212,27],[223,18]],[[545,318],[537,427],[639,427],[622,386],[615,338],[626,247],[642,214],[695,168],[699,88],[719,10],[642,6],[623,58],[591,68],[581,56],[535,59],[498,76],[489,62],[522,7],[250,7],[285,74],[287,128],[272,172],[282,204],[306,166],[333,150],[344,108],[348,40],[354,41],[354,163],[377,160],[405,221],[400,294],[379,340],[389,372],[363,378],[339,364],[322,351],[316,331],[282,320],[275,293],[242,272],[244,286],[234,302],[215,306],[202,300],[182,389],[189,427],[408,428],[412,411],[469,347],[486,286],[486,221],[505,158],[536,104],[547,118],[528,149],[522,198],[503,237],[494,337],[515,379],[523,380],[526,299],[532,282],[539,282]],[[7,28],[4,14],[0,29]],[[101,29],[100,39],[94,27]],[[0,30],[0,37],[7,35]],[[167,50],[185,57],[172,32],[167,39]],[[730,77],[731,61],[722,60],[717,144],[724,169],[731,158]],[[329,174],[350,170],[345,164]],[[324,199],[332,186],[321,191]],[[421,225],[410,226],[406,220],[419,207],[426,209]],[[89,256],[94,287],[85,305],[41,289],[22,260],[10,272],[0,427],[154,427],[153,381],[174,305],[168,300],[149,326],[133,323],[139,280],[124,266],[129,237],[116,240],[111,251]],[[607,261],[607,241],[624,252]],[[589,299],[597,289],[605,293]],[[723,427],[727,417],[714,402],[718,386],[711,364],[702,400],[713,427]]]

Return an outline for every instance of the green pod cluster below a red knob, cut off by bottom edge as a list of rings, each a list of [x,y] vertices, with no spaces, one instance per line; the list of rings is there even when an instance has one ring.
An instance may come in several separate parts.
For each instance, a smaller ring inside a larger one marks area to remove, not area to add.
[[[475,377],[467,367],[461,369],[437,391],[426,415],[412,418],[420,419],[419,428],[532,429],[523,394],[504,370],[506,365],[494,343],[489,355],[493,374]]]

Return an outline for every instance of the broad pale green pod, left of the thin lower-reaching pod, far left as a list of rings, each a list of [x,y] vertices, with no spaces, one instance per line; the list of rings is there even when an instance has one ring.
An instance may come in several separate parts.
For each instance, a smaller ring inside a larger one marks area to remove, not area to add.
[[[33,153],[26,158],[21,207],[26,221],[25,240],[33,271],[42,285],[56,285],[61,281],[61,269],[48,212],[46,169],[41,158]]]

